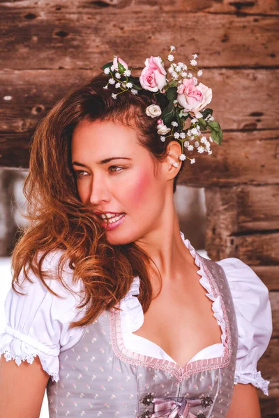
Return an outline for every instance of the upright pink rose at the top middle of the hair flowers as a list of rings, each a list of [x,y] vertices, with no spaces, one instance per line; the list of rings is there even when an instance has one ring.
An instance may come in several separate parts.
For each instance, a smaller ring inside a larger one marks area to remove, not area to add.
[[[167,72],[162,64],[160,56],[146,58],[145,68],[140,75],[140,84],[142,88],[149,91],[162,91],[166,82]]]

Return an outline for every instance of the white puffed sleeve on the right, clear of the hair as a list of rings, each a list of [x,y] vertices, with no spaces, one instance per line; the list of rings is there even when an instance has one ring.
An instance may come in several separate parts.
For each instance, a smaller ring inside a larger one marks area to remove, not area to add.
[[[257,362],[272,334],[269,289],[239,258],[224,258],[217,263],[225,270],[239,332],[234,383],[251,383],[269,395],[269,380],[264,380],[261,371],[257,371]]]

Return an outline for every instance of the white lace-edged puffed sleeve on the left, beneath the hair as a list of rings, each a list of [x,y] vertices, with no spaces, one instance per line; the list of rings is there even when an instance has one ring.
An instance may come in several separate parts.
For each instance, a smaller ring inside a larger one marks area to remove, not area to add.
[[[43,270],[50,270],[53,277],[46,279],[52,291],[63,298],[52,295],[45,288],[43,282],[31,270],[28,275],[33,281],[23,279],[23,270],[20,272],[22,287],[16,288],[25,295],[19,295],[12,287],[5,300],[6,328],[0,334],[0,354],[6,361],[15,360],[20,366],[22,361],[32,364],[34,357],[38,356],[52,381],[59,380],[59,353],[71,348],[79,341],[83,329],[68,328],[70,322],[78,320],[84,311],[76,309],[81,302],[81,280],[73,285],[71,277],[73,270],[68,266],[63,268],[63,281],[77,295],[68,291],[56,277],[56,265],[61,251],[48,254],[43,263]],[[45,268],[47,267],[47,268]]]

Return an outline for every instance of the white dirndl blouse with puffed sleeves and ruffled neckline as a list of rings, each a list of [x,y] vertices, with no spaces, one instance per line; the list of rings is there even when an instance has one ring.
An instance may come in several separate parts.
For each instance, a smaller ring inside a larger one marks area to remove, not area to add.
[[[199,283],[206,289],[206,296],[213,301],[213,316],[222,330],[221,342],[199,351],[190,359],[188,362],[190,363],[197,359],[223,356],[226,327],[220,306],[220,295],[213,296],[194,247],[188,239],[185,239],[182,232],[181,238],[195,259],[195,264],[199,268],[197,273],[201,277]],[[73,347],[82,337],[83,328],[75,327],[70,330],[68,326],[73,320],[82,318],[86,309],[85,307],[82,310],[76,309],[81,301],[80,296],[84,286],[81,279],[75,286],[73,285],[71,281],[73,270],[68,266],[64,268],[63,280],[78,295],[70,293],[56,279],[60,256],[61,250],[49,254],[45,258],[43,269],[47,268],[52,272],[52,278],[46,279],[46,283],[55,293],[63,296],[63,299],[47,291],[38,277],[30,271],[29,277],[33,283],[25,280],[23,290],[18,289],[26,295],[18,295],[13,288],[8,291],[5,300],[6,328],[0,334],[0,353],[3,353],[7,361],[14,359],[19,366],[24,360],[32,363],[33,358],[38,355],[43,369],[55,381],[59,380],[59,353]],[[268,395],[269,380],[264,380],[261,372],[257,371],[257,362],[269,345],[273,330],[268,288],[252,268],[239,258],[224,258],[217,263],[225,270],[239,332],[234,383],[251,383]],[[23,278],[22,272],[20,278]],[[124,345],[136,353],[174,362],[174,359],[156,343],[133,334],[144,322],[142,305],[136,297],[140,293],[139,288],[140,279],[134,277],[130,290],[120,302]]]

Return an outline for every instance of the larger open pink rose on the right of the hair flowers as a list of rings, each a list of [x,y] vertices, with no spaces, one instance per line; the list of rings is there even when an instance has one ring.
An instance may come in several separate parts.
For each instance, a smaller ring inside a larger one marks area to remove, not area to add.
[[[199,83],[195,86],[195,77],[183,79],[183,83],[177,88],[177,100],[191,116],[202,118],[200,111],[212,100],[212,90]]]

